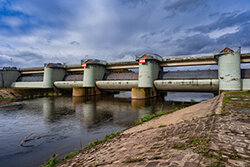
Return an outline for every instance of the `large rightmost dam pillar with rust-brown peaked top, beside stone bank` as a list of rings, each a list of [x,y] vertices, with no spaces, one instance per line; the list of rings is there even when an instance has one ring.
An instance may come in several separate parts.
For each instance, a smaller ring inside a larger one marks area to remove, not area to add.
[[[235,51],[225,48],[215,56],[218,60],[219,91],[241,90],[240,48]]]

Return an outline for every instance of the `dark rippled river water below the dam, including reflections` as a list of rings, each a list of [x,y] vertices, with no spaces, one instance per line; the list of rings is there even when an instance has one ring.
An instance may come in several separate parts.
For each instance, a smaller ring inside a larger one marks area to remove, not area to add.
[[[54,153],[63,156],[77,151],[94,139],[134,125],[146,115],[189,105],[181,101],[213,97],[173,93],[134,101],[129,96],[43,97],[0,103],[0,166],[39,166]]]

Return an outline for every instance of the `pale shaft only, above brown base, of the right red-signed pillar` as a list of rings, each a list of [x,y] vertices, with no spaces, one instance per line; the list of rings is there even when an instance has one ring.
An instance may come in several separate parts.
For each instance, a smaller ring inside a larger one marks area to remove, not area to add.
[[[159,61],[148,59],[145,63],[139,64],[139,88],[153,88],[154,80],[158,78]]]

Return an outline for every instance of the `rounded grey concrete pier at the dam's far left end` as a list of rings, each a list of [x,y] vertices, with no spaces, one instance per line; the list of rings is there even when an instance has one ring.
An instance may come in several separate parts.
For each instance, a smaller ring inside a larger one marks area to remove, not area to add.
[[[0,88],[11,87],[13,82],[16,82],[20,76],[18,71],[0,71]]]

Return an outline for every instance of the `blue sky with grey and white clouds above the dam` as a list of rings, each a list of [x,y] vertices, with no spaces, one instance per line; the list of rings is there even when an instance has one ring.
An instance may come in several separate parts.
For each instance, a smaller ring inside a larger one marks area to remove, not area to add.
[[[0,0],[0,67],[250,52],[250,0]]]

